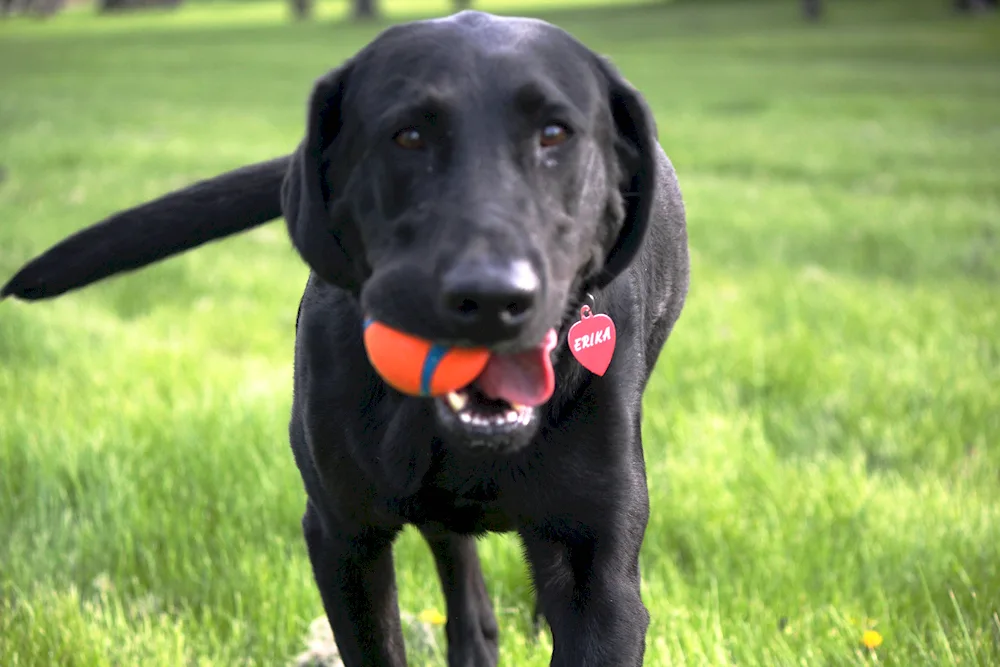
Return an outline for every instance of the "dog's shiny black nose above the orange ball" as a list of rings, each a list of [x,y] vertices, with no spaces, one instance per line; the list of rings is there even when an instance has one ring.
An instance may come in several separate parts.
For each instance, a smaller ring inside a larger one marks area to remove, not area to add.
[[[442,279],[443,310],[463,337],[489,343],[515,334],[539,298],[538,274],[525,260],[460,262]]]

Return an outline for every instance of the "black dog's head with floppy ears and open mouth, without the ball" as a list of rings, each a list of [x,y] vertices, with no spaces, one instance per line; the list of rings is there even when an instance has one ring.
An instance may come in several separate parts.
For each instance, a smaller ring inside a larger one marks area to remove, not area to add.
[[[645,105],[564,31],[462,12],[385,31],[317,83],[309,114],[283,192],[299,252],[367,315],[489,347],[476,381],[435,399],[442,432],[525,444],[558,332],[641,242]]]

